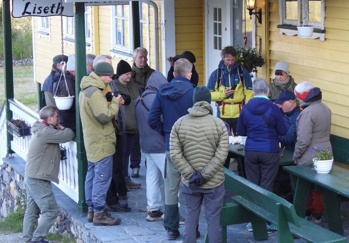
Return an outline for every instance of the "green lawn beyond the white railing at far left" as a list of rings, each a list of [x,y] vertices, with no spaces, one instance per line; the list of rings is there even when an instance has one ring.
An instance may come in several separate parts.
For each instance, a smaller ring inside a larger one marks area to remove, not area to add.
[[[33,66],[14,66],[15,99],[32,110],[37,109],[37,84],[34,83]],[[0,67],[0,106],[5,99],[4,68]]]

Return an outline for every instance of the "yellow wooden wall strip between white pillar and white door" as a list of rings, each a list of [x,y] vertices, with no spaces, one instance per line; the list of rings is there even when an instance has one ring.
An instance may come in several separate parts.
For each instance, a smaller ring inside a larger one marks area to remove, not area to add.
[[[195,55],[194,65],[199,75],[198,85],[205,85],[205,15],[203,9],[203,0],[174,1],[175,53],[179,55],[188,50]]]

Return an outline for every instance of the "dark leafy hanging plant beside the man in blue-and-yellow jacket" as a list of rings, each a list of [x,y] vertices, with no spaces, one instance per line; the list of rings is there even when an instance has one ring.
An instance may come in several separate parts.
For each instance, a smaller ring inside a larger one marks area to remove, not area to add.
[[[237,62],[239,62],[249,73],[257,72],[256,67],[264,65],[264,59],[254,47],[237,46],[235,48],[238,52]]]

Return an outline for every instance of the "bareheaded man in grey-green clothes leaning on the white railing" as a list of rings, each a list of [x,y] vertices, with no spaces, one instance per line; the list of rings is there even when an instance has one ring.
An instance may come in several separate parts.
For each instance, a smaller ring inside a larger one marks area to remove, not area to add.
[[[51,182],[59,183],[59,144],[69,142],[75,137],[72,130],[58,123],[56,107],[43,107],[39,117],[42,120],[32,125],[24,178],[27,208],[23,220],[23,242],[28,243],[47,243],[44,237],[58,216]],[[41,219],[38,221],[40,212]],[[34,231],[35,223],[37,228]]]

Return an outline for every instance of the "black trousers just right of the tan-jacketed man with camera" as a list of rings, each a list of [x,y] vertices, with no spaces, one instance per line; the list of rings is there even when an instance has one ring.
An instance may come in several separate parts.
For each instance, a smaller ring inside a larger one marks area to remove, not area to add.
[[[123,139],[121,135],[116,135],[115,153],[113,154],[111,184],[107,192],[107,205],[118,203],[118,195],[125,196],[127,187],[124,176]]]

